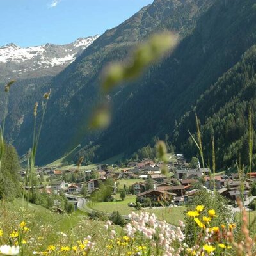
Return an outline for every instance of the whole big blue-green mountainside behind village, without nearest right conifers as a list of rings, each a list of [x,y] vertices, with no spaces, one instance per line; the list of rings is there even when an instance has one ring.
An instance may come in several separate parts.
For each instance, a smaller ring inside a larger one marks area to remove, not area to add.
[[[175,52],[151,67],[138,81],[123,85],[109,95],[114,109],[113,122],[106,131],[88,132],[86,120],[97,101],[102,68],[110,61],[124,59],[137,42],[163,29],[179,33],[180,43]],[[211,118],[218,112],[214,107],[219,100],[218,93],[216,96],[207,93],[256,43],[255,31],[253,0],[154,1],[120,26],[106,31],[54,77],[38,163],[50,162],[79,143],[84,147],[79,155],[88,157],[89,152],[92,161],[120,153],[129,156],[154,136],[164,138],[165,134],[187,156],[195,155],[191,143],[186,150],[187,129],[195,131],[195,113],[191,109],[202,106],[198,111],[202,122],[206,120],[204,116]],[[243,88],[241,80],[237,79],[236,86],[228,88],[230,99],[240,92],[237,88]],[[228,104],[230,99],[225,97],[221,104]],[[189,118],[184,118],[185,113],[189,113],[186,114]],[[226,111],[225,115],[233,115],[230,113]],[[25,118],[14,141],[20,154],[29,148],[32,127],[33,118]],[[217,137],[218,134],[216,140]],[[220,138],[224,140],[225,137]],[[230,138],[225,143],[231,145],[236,140]],[[230,163],[227,160],[230,156],[221,158],[223,151],[217,154],[220,154],[219,164]]]

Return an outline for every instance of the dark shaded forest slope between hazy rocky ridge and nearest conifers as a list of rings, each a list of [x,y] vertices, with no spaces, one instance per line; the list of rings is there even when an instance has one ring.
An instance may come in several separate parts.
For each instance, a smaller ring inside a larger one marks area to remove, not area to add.
[[[255,21],[253,1],[216,1],[170,58],[151,68],[131,94],[129,88],[120,92],[127,92],[129,97],[120,96],[125,100],[116,104],[120,108],[116,118],[98,141],[106,146],[97,152],[106,156],[132,152],[140,145],[147,145],[153,136],[164,138],[164,134],[169,134],[172,140],[175,123],[179,123],[200,95],[255,44]],[[236,95],[232,88],[230,93]],[[207,108],[202,108],[202,115],[204,111]],[[195,113],[191,120],[184,122],[180,140],[173,141],[180,150],[185,150],[181,147],[182,138],[189,135],[186,125],[191,125],[191,131],[195,131]],[[195,145],[193,151],[191,148],[186,150],[187,156],[196,154]]]

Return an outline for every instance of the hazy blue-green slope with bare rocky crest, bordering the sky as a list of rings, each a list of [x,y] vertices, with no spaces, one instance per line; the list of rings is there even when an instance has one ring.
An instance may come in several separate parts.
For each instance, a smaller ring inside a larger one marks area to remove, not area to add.
[[[56,76],[52,81],[52,97],[45,116],[45,129],[42,131],[39,163],[51,161],[81,141],[86,145],[102,135],[88,136],[85,129],[86,119],[97,98],[102,67],[110,61],[122,60],[131,52],[134,44],[166,26],[181,31],[184,36],[188,35],[200,13],[212,2],[154,1],[152,5],[146,6],[120,26],[106,31],[74,63]],[[189,24],[188,29],[186,24]],[[129,89],[130,93],[132,91],[132,88]],[[127,92],[124,93],[126,97]],[[127,100],[122,97],[123,95],[116,97],[116,102]],[[32,126],[33,118],[27,118],[22,124],[19,137],[15,140],[15,146],[20,154],[28,150],[29,145],[24,138],[27,141],[31,140]]]

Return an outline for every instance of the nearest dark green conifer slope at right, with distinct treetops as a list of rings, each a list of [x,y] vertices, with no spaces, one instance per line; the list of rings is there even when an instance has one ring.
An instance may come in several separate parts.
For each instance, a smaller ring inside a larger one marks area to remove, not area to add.
[[[241,60],[206,90],[191,111],[175,127],[175,144],[187,156],[196,154],[187,129],[195,131],[195,112],[202,125],[205,156],[211,159],[212,136],[215,138],[216,163],[219,168],[235,161],[248,163],[248,115],[252,108],[253,127],[256,110],[256,45]],[[253,137],[256,134],[254,132]],[[254,141],[253,147],[256,143]],[[254,150],[255,152],[255,150]],[[254,156],[255,158],[255,156]]]

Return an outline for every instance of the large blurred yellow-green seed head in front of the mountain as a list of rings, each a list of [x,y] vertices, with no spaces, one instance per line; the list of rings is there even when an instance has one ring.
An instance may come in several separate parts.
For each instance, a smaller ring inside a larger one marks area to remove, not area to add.
[[[129,61],[112,63],[105,68],[102,78],[101,94],[106,97],[118,84],[131,81],[142,72],[166,56],[177,45],[178,37],[172,33],[161,33],[151,36],[139,45],[133,52]],[[101,103],[95,109],[90,120],[90,128],[104,129],[111,121],[111,109],[107,103]]]

